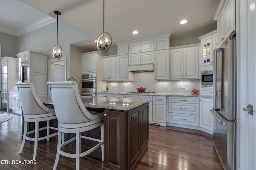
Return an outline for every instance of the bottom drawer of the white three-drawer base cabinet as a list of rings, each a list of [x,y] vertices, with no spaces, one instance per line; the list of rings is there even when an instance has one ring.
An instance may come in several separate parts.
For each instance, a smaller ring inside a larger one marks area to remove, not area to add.
[[[170,123],[199,126],[199,115],[188,115],[181,113],[169,113]]]

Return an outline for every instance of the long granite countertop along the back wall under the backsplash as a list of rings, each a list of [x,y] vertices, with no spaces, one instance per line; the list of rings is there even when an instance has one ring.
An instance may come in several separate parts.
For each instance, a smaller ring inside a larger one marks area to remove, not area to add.
[[[99,92],[105,94],[122,94],[122,95],[143,95],[143,96],[180,96],[180,97],[198,97],[198,98],[213,98],[212,96],[206,95],[192,95],[192,94],[176,94],[176,93],[153,93],[153,94],[129,94],[127,92]]]

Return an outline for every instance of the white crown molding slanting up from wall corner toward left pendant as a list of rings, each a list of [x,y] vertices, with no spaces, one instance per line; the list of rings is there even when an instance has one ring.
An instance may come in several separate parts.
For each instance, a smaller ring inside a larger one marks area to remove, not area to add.
[[[30,23],[28,25],[25,25],[24,27],[21,27],[20,29],[18,29],[16,31],[17,36],[23,35],[25,33],[28,33],[30,31],[33,31],[35,29],[38,29],[38,28],[43,27],[45,25],[48,25],[50,23],[53,23],[54,21],[56,21],[55,18],[52,18],[50,16],[46,16],[46,17],[44,17],[44,18],[42,18],[40,20],[32,22],[32,23]]]

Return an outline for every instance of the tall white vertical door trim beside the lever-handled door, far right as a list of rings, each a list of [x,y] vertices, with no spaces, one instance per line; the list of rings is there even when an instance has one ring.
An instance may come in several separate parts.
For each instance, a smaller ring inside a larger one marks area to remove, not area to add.
[[[248,103],[247,51],[248,51],[248,0],[236,0],[237,29],[237,169],[248,169],[248,114],[243,107]]]

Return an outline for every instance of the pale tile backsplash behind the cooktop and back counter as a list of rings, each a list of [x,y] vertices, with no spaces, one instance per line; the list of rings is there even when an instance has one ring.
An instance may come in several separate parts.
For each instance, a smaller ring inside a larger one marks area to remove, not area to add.
[[[107,82],[108,92],[136,92],[146,88],[146,92],[190,94],[190,90],[200,90],[200,80],[155,80],[154,72],[134,72],[133,81]]]

